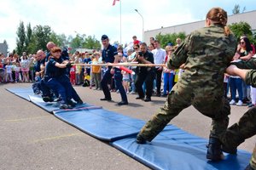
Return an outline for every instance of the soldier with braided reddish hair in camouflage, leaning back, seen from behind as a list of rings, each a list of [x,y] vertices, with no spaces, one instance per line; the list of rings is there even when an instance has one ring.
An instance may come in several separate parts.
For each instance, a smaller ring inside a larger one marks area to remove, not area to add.
[[[137,135],[137,143],[151,141],[172,118],[193,105],[203,115],[212,118],[207,159],[222,158],[218,134],[229,124],[230,104],[224,99],[224,71],[236,52],[236,38],[226,26],[227,13],[212,8],[206,27],[192,32],[168,60],[169,69],[184,63],[184,72],[160,108]]]

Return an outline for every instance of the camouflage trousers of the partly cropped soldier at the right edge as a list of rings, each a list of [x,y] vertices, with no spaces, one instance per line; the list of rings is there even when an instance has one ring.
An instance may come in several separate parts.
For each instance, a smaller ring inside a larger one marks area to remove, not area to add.
[[[256,107],[248,110],[239,122],[230,126],[224,133],[220,135],[220,140],[224,145],[236,148],[245,139],[256,134]],[[253,149],[253,156],[250,161],[253,169],[256,169],[256,145]]]

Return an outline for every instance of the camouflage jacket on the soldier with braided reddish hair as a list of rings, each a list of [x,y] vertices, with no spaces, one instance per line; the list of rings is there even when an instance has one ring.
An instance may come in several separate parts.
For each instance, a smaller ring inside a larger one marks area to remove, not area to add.
[[[236,37],[224,35],[224,27],[212,25],[193,31],[175,50],[167,67],[176,69],[184,63],[178,80],[185,87],[209,90],[223,87],[224,71],[236,52]]]

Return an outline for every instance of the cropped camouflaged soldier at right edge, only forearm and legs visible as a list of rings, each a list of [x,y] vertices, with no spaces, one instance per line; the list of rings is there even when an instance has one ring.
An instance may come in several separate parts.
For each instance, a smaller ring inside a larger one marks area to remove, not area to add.
[[[241,70],[244,69],[255,69],[255,70]],[[230,65],[226,70],[228,74],[232,76],[239,76],[248,85],[256,87],[256,59],[250,59],[248,61],[241,61]],[[225,152],[236,154],[236,147],[256,134],[256,107],[254,106],[248,110],[243,116],[241,116],[239,122],[230,126],[224,133],[220,135],[222,143],[222,150]],[[247,170],[256,170],[256,145],[253,149],[253,156],[250,161],[250,165],[247,166]]]

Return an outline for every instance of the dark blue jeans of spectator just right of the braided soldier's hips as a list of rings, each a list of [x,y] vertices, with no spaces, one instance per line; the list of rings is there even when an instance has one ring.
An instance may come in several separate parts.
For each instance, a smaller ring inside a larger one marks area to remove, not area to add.
[[[238,98],[242,100],[242,80],[241,78],[230,77],[231,99],[236,100],[236,90],[238,91]]]

